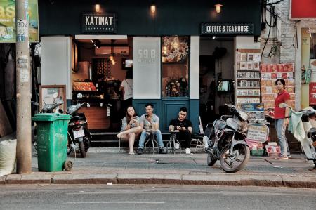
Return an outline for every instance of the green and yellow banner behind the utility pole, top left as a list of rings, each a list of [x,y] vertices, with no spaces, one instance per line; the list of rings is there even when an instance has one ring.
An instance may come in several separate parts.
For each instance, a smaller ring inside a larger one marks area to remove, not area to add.
[[[24,32],[24,37],[29,37],[30,42],[39,41],[39,13],[37,10],[37,0],[29,0],[27,5],[28,13],[27,20],[29,23],[29,32]],[[23,20],[22,20],[23,21]],[[16,21],[22,32],[21,21]],[[20,33],[21,35],[21,33]],[[22,39],[21,36],[18,37]],[[0,1],[0,43],[15,43],[16,42],[16,26],[15,26],[15,1],[1,0]]]

